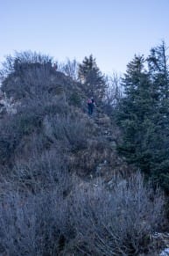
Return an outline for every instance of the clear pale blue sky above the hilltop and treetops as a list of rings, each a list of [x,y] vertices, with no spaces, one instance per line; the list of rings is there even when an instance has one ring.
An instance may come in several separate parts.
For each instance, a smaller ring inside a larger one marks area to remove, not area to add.
[[[135,54],[169,47],[169,0],[0,0],[0,33],[0,62],[15,50],[93,54],[102,72],[123,72]]]

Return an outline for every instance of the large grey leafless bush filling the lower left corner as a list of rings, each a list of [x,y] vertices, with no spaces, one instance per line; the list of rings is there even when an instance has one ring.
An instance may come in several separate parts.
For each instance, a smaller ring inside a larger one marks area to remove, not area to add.
[[[67,157],[56,148],[17,159],[0,179],[0,253],[58,255],[72,237]]]

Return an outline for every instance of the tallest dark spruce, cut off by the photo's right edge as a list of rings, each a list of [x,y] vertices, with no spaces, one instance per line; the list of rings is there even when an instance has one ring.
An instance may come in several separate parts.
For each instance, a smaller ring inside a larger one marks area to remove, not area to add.
[[[153,159],[151,173],[155,179],[169,190],[169,65],[167,48],[163,41],[158,47],[151,48],[148,67],[156,91],[156,137],[153,140]]]

